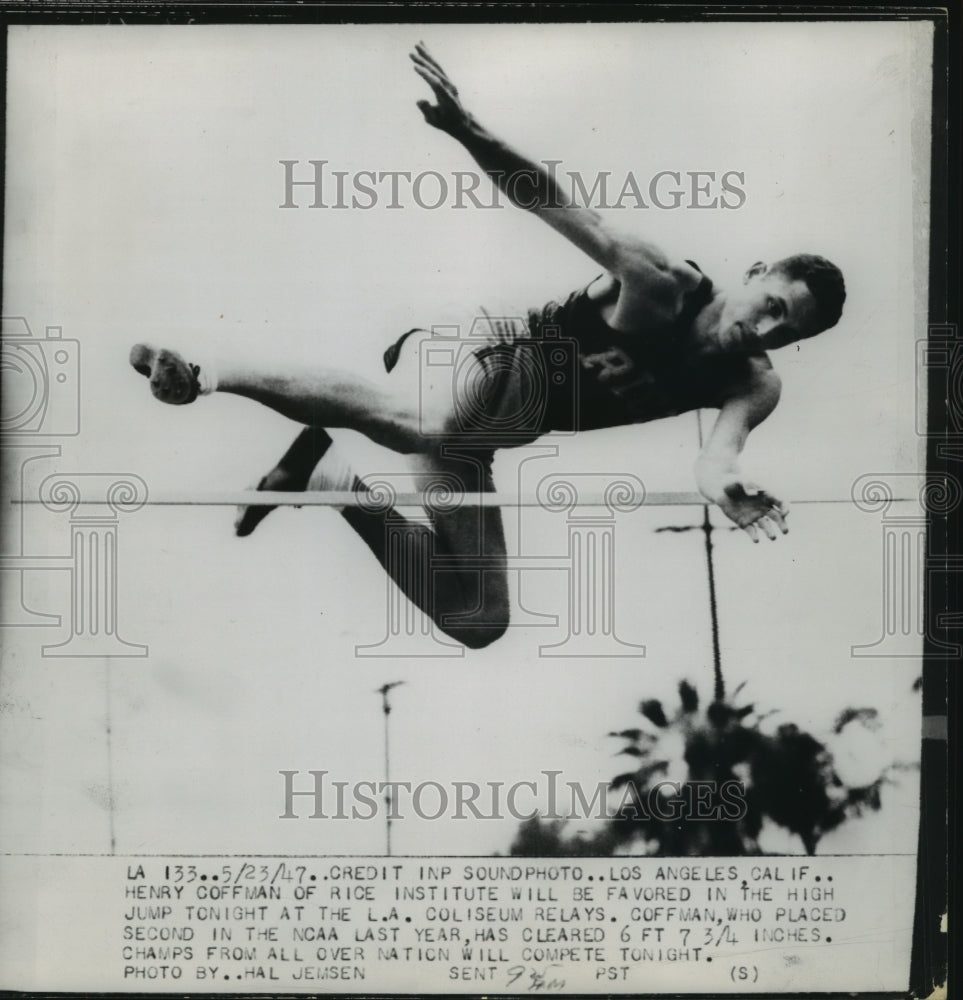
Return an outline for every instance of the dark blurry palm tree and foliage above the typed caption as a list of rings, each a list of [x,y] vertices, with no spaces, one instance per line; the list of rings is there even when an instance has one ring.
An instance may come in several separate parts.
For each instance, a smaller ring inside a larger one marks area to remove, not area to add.
[[[814,854],[830,830],[878,810],[883,785],[909,766],[889,764],[867,784],[847,785],[830,749],[810,733],[789,722],[773,734],[763,732],[760,723],[771,713],[759,715],[754,705],[725,697],[701,712],[688,681],[679,685],[671,716],[655,699],[643,701],[639,712],[646,726],[609,733],[624,741],[618,753],[636,766],[612,779],[620,799],[605,827],[595,836],[566,837],[564,821],[535,818],[519,829],[512,854],[605,856],[633,848],[673,857],[759,854],[766,820],[798,836]],[[875,709],[847,708],[833,734],[878,725]]]

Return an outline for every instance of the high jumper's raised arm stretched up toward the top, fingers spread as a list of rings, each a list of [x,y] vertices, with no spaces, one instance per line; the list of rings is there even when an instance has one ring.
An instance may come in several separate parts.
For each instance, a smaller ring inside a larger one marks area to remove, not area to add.
[[[595,209],[576,205],[540,164],[516,152],[492,135],[462,105],[458,89],[418,43],[411,60],[415,72],[434,92],[437,104],[419,101],[425,121],[457,139],[509,200],[547,222],[607,271],[636,278],[651,269],[661,275],[669,262],[657,247],[613,231]]]

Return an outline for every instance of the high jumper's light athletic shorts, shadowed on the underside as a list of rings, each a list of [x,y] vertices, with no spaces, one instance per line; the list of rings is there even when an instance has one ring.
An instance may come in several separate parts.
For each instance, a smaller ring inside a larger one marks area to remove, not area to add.
[[[529,444],[558,425],[578,376],[575,342],[534,338],[532,325],[528,316],[483,309],[461,325],[415,327],[385,351],[385,369],[397,364],[411,334],[430,332],[420,364],[435,380],[450,378],[456,436],[491,448]]]

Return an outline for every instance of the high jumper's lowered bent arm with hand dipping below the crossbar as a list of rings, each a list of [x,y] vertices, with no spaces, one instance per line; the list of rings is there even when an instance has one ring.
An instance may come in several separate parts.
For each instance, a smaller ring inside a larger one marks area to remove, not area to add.
[[[786,515],[783,503],[755,483],[747,481],[739,468],[739,455],[749,432],[769,416],[779,402],[779,376],[771,369],[757,375],[744,393],[727,400],[709,440],[696,461],[699,491],[718,504],[723,513],[754,541],[761,529],[772,540],[776,529],[783,534]]]

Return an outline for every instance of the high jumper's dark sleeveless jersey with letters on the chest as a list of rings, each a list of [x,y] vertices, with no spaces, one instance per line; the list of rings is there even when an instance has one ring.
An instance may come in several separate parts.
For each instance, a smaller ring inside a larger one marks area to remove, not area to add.
[[[543,350],[558,357],[559,346],[568,340],[575,342],[578,355],[570,362],[572,378],[552,384],[546,430],[592,430],[719,407],[727,387],[749,374],[745,356],[699,357],[692,350],[692,323],[712,299],[712,282],[705,275],[670,325],[630,333],[613,330],[602,319],[604,303],[588,296],[593,283],[562,303],[549,302],[529,313],[531,334]]]

